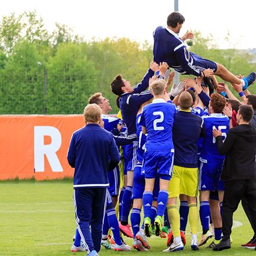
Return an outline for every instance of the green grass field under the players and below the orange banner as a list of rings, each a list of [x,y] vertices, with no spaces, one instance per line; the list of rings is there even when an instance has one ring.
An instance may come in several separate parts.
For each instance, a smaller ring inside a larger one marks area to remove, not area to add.
[[[86,255],[71,252],[75,232],[75,216],[72,201],[72,181],[5,181],[0,183],[0,255]],[[188,246],[179,255],[256,255],[256,251],[241,248],[252,235],[249,222],[239,207],[234,215],[242,226],[233,229],[232,248],[222,252],[200,248],[198,252]],[[189,232],[187,231],[187,234]],[[126,238],[132,245],[132,239]],[[165,239],[150,238],[149,252],[115,252],[101,249],[100,255],[166,255],[162,252]]]

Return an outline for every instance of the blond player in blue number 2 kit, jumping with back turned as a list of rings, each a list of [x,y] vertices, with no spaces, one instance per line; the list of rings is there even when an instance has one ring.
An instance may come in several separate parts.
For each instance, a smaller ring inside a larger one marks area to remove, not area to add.
[[[164,100],[167,84],[158,80],[151,84],[152,104],[143,107],[140,125],[143,133],[148,133],[146,149],[143,156],[145,171],[145,191],[143,193],[143,210],[145,235],[151,235],[151,207],[153,187],[156,175],[160,178],[158,194],[158,212],[155,219],[155,235],[161,234],[162,216],[168,200],[168,185],[172,175],[174,145],[172,143],[172,125],[175,117],[175,105]]]

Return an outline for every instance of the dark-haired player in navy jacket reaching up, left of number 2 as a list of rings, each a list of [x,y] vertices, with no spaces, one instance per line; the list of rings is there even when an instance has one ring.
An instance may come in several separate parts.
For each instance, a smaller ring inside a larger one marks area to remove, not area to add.
[[[111,83],[111,90],[114,94],[118,95],[120,110],[123,117],[123,122],[126,124],[128,130],[128,136],[136,135],[136,115],[141,104],[152,98],[151,91],[145,91],[149,86],[149,79],[154,75],[154,72],[158,70],[158,65],[156,70],[155,63],[151,63],[151,68],[148,69],[145,76],[140,84],[135,87],[130,86],[130,82],[126,81],[121,75],[116,76],[114,81]],[[132,185],[133,185],[133,170],[136,165],[136,151],[137,151],[137,141],[130,143],[126,146],[124,151],[124,161],[127,169],[127,186],[123,194],[121,223],[119,225],[121,231],[127,236],[133,237],[132,232],[128,228],[128,216],[130,211],[130,205],[132,202]]]

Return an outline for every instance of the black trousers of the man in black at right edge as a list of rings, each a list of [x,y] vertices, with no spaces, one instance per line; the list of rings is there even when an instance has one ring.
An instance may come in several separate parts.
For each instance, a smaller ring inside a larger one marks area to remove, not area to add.
[[[238,208],[242,198],[248,202],[248,212],[251,216],[254,235],[256,234],[256,180],[225,181],[222,213],[222,232],[224,241],[230,238],[233,213]]]

